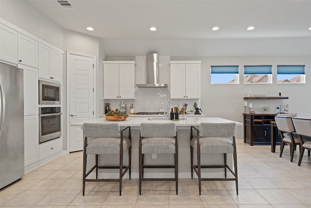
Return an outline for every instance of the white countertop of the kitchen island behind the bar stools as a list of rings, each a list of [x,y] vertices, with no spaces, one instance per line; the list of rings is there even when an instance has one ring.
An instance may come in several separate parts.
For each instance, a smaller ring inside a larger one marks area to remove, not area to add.
[[[163,115],[162,115],[163,116]],[[116,122],[119,123],[120,127],[140,127],[140,123],[171,123],[174,122],[176,124],[176,127],[189,127],[190,126],[200,126],[200,123],[207,122],[207,123],[226,123],[226,122],[235,122],[237,125],[241,125],[242,123],[231,121],[225,118],[219,118],[219,117],[202,117],[202,116],[188,116],[186,115],[186,120],[179,120],[179,121],[172,121],[172,120],[148,120],[149,117],[154,116],[148,116],[148,117],[131,117],[129,116],[125,121],[107,121],[104,117],[97,118],[94,120],[88,120],[85,122],[79,122],[75,124],[71,124],[71,126],[77,126],[82,127],[83,123],[106,123],[106,122]]]

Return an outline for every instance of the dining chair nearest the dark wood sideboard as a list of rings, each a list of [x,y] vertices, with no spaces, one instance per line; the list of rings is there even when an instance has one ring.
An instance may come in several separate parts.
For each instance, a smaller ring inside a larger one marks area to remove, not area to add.
[[[281,136],[281,151],[280,157],[282,157],[285,144],[290,145],[291,162],[294,158],[294,150],[297,145],[300,145],[300,139],[295,131],[293,118],[291,116],[275,116],[276,127]]]

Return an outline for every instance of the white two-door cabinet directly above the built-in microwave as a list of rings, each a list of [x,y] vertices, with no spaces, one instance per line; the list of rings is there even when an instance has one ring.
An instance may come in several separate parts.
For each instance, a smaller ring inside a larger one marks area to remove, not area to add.
[[[61,81],[62,54],[39,43],[39,77]]]

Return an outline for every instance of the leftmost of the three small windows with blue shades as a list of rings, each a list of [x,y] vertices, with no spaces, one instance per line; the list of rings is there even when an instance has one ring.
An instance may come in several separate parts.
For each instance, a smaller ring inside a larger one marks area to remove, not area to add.
[[[239,66],[210,66],[211,84],[239,84]]]

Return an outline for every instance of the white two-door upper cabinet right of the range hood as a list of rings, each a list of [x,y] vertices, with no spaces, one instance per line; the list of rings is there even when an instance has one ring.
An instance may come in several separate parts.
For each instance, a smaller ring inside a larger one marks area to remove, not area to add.
[[[201,61],[170,61],[171,98],[201,97]]]

